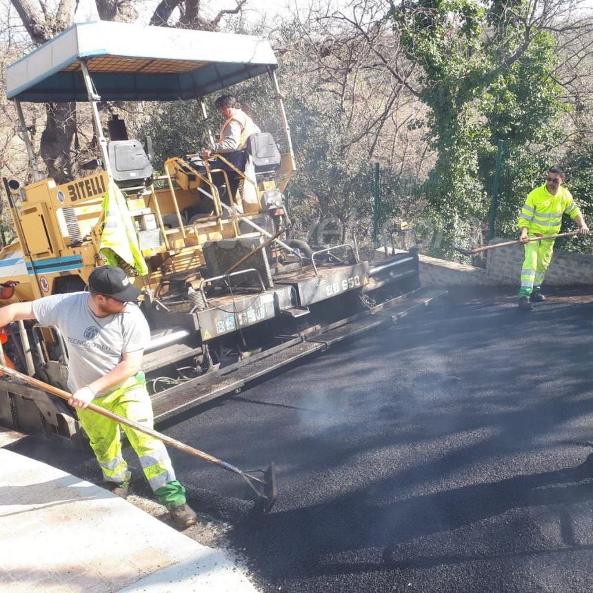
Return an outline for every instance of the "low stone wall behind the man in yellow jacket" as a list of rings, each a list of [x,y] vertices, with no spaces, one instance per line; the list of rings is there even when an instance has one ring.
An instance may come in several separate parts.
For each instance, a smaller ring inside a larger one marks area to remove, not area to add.
[[[494,239],[503,243],[508,239]],[[388,253],[392,250],[388,248]],[[399,250],[396,250],[399,252]],[[519,286],[523,247],[512,245],[488,250],[486,268],[454,263],[427,255],[420,256],[420,281],[423,286]],[[384,259],[383,248],[375,251],[375,259]],[[554,251],[545,283],[551,286],[593,285],[593,254]]]

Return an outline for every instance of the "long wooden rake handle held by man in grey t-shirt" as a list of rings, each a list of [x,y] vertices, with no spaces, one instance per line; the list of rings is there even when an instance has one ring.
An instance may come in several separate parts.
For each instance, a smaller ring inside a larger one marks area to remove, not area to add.
[[[8,376],[12,376],[14,379],[19,379],[20,381],[24,381],[25,383],[28,383],[29,385],[32,385],[33,387],[37,387],[43,391],[46,391],[53,395],[56,395],[61,399],[65,399],[66,401],[68,401],[72,397],[72,395],[70,393],[68,393],[64,390],[54,387],[53,385],[48,385],[48,383],[43,383],[43,381],[39,381],[39,379],[35,379],[32,376],[23,374],[17,370],[8,368],[4,365],[0,365],[0,371],[3,372],[4,374],[7,374]],[[99,405],[96,405],[94,403],[89,403],[89,405],[87,406],[87,410],[92,410],[93,412],[96,412],[97,414],[101,414],[101,416],[110,418],[120,424],[129,426],[130,428],[133,428],[134,430],[143,432],[144,434],[150,434],[150,436],[154,436],[155,439],[159,439],[160,441],[163,441],[163,443],[167,443],[167,445],[171,445],[175,449],[179,449],[180,451],[184,451],[185,453],[189,453],[190,455],[199,457],[199,459],[202,459],[203,461],[208,461],[208,463],[214,463],[214,465],[218,465],[220,468],[223,468],[224,470],[228,470],[229,472],[233,472],[234,474],[239,474],[241,476],[244,476],[243,472],[241,470],[239,470],[239,468],[235,468],[234,465],[231,465],[230,463],[227,463],[226,461],[217,459],[216,457],[209,455],[208,453],[205,453],[203,451],[200,451],[199,449],[191,447],[190,445],[185,445],[185,443],[181,443],[181,441],[172,439],[170,436],[167,436],[166,434],[163,434],[162,432],[158,432],[157,430],[148,428],[147,426],[143,426],[137,422],[134,422],[133,420],[128,420],[127,418],[124,418],[123,416],[118,416],[117,414],[114,414],[113,412],[110,412],[109,410],[105,410],[105,408],[101,408]]]

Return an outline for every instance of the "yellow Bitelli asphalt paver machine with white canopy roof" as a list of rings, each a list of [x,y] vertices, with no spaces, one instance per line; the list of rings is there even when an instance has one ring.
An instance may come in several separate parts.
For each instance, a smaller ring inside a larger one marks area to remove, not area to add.
[[[354,242],[309,245],[290,236],[283,192],[295,161],[276,69],[262,37],[106,21],[74,25],[8,67],[32,181],[4,180],[17,238],[0,251],[0,303],[84,290],[105,263],[116,217],[143,260],[123,255],[120,263],[143,289],[152,332],[144,370],[157,423],[391,325],[441,294],[419,288],[416,250],[372,263]],[[254,77],[270,81],[284,149],[270,134],[250,142],[254,166],[233,171],[241,178],[236,196],[223,194],[228,178],[213,183],[217,170],[199,154],[154,163],[150,146],[128,138],[117,117],[103,131],[101,101],[197,99],[206,118],[205,97]],[[25,101],[90,102],[98,158],[87,177],[57,184],[41,176]],[[105,201],[114,186],[115,213]],[[66,388],[68,347],[57,328],[19,322],[0,337],[0,356],[18,370]],[[0,423],[82,442],[74,410],[6,377]]]

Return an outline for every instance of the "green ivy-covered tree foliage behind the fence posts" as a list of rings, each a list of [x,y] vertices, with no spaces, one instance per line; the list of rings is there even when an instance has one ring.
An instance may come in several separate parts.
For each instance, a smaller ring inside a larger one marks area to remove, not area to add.
[[[514,12],[503,4],[421,0],[390,13],[408,58],[422,69],[428,139],[438,152],[427,197],[452,241],[467,232],[468,218],[487,220],[498,139],[506,149],[497,229],[504,234],[516,233],[516,212],[545,170],[538,155],[559,141],[556,41],[533,31],[523,47],[519,17],[529,2],[514,1]]]

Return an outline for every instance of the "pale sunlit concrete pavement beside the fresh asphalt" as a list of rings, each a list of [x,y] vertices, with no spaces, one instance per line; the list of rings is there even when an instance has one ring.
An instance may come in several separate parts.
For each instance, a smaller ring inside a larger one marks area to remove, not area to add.
[[[3,448],[0,467],[0,592],[257,591],[217,550],[97,485]]]

